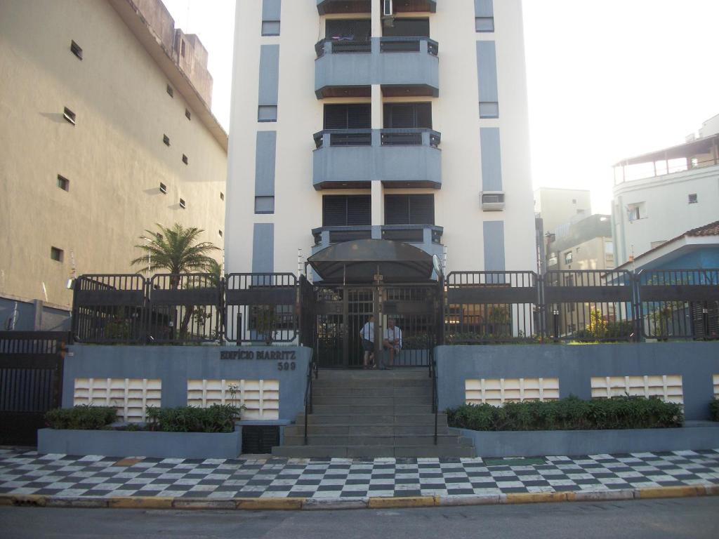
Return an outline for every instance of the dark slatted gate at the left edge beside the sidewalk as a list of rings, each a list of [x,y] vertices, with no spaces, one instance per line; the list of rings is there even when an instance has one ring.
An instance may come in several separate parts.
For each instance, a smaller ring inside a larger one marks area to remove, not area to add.
[[[0,331],[0,445],[37,445],[47,410],[60,407],[68,333]]]

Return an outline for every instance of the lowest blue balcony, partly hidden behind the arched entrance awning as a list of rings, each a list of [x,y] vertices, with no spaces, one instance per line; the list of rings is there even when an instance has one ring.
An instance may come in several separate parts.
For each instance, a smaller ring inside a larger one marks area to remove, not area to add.
[[[312,229],[315,244],[312,254],[343,241],[356,239],[391,239],[413,244],[428,254],[442,254],[444,229],[434,225],[382,225],[382,226],[321,226]]]

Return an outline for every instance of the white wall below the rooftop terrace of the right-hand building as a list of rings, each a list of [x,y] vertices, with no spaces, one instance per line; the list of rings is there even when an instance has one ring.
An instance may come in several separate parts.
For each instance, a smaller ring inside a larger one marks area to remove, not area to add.
[[[690,203],[689,195],[697,195]],[[628,209],[641,205],[639,219]],[[613,225],[617,265],[687,230],[719,220],[719,166],[635,180],[614,189]]]

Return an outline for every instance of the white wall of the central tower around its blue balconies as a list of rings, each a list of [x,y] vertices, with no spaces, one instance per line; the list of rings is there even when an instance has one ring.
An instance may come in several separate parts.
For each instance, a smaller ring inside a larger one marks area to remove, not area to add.
[[[378,2],[372,5],[380,7]],[[316,98],[314,45],[324,36],[325,19],[317,13],[316,0],[283,0],[278,37],[260,37],[261,0],[239,0],[236,12],[226,268],[251,271],[253,225],[273,223],[274,270],[295,272],[298,249],[307,257],[313,245],[311,229],[322,225],[322,195],[370,194],[370,190],[314,190],[312,134],[323,127],[324,104],[370,99]],[[391,101],[432,102],[433,128],[441,132],[442,186],[440,190],[372,190],[375,196],[434,193],[435,224],[444,227],[449,271],[483,269],[483,221],[504,222],[507,270],[531,270],[536,264],[521,0],[495,0],[494,12],[495,32],[486,34],[475,32],[473,0],[439,0],[435,14],[408,14],[429,16],[431,39],[439,43],[439,97]],[[496,42],[499,119],[479,118],[477,40]],[[257,122],[260,45],[267,44],[280,45],[276,123]],[[480,126],[500,128],[505,211],[483,212],[480,206]],[[257,131],[265,129],[278,133],[275,213],[255,215],[255,139]]]

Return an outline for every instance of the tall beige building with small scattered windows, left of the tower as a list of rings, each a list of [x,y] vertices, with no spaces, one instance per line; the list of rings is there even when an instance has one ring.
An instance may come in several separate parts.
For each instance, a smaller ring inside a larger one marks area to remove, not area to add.
[[[0,73],[4,326],[64,328],[68,279],[137,272],[156,223],[222,247],[207,51],[160,0],[1,0]]]

